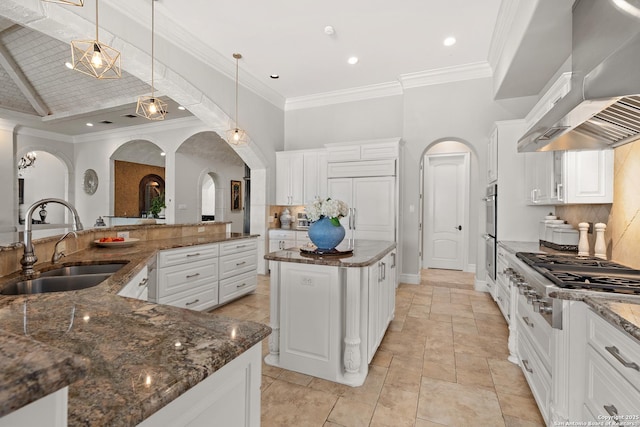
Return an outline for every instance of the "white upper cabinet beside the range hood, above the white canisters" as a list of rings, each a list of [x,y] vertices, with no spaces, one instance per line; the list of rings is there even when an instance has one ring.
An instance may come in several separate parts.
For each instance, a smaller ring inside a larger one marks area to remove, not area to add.
[[[526,156],[530,204],[613,203],[613,150],[548,151]]]

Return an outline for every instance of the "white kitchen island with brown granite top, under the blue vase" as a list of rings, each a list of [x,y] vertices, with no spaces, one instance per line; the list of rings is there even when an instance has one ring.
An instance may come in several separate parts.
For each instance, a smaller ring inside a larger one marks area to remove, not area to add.
[[[394,316],[395,248],[395,242],[356,240],[353,253],[343,255],[298,248],[265,255],[273,331],[265,363],[362,385]]]

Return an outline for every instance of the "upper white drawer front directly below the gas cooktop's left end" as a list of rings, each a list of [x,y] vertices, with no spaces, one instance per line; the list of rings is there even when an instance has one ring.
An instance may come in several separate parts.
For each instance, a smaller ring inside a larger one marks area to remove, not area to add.
[[[527,335],[533,348],[538,352],[547,371],[551,372],[551,326],[527,304],[526,298],[518,295],[518,339]]]

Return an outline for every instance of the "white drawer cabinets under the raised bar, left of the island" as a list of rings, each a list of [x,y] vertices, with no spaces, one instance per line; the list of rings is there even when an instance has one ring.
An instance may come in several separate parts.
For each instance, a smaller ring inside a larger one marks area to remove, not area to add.
[[[161,251],[149,300],[191,310],[210,310],[257,286],[256,239]]]

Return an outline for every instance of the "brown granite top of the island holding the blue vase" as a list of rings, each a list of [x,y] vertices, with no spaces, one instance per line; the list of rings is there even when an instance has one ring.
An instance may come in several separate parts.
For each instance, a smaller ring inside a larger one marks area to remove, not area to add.
[[[302,253],[300,248],[271,252],[264,256],[269,261],[295,262],[299,264],[329,265],[335,267],[366,267],[381,260],[395,249],[396,243],[384,240],[356,240],[353,246],[343,242],[336,249],[342,254],[315,255]],[[350,252],[352,251],[352,252]]]

